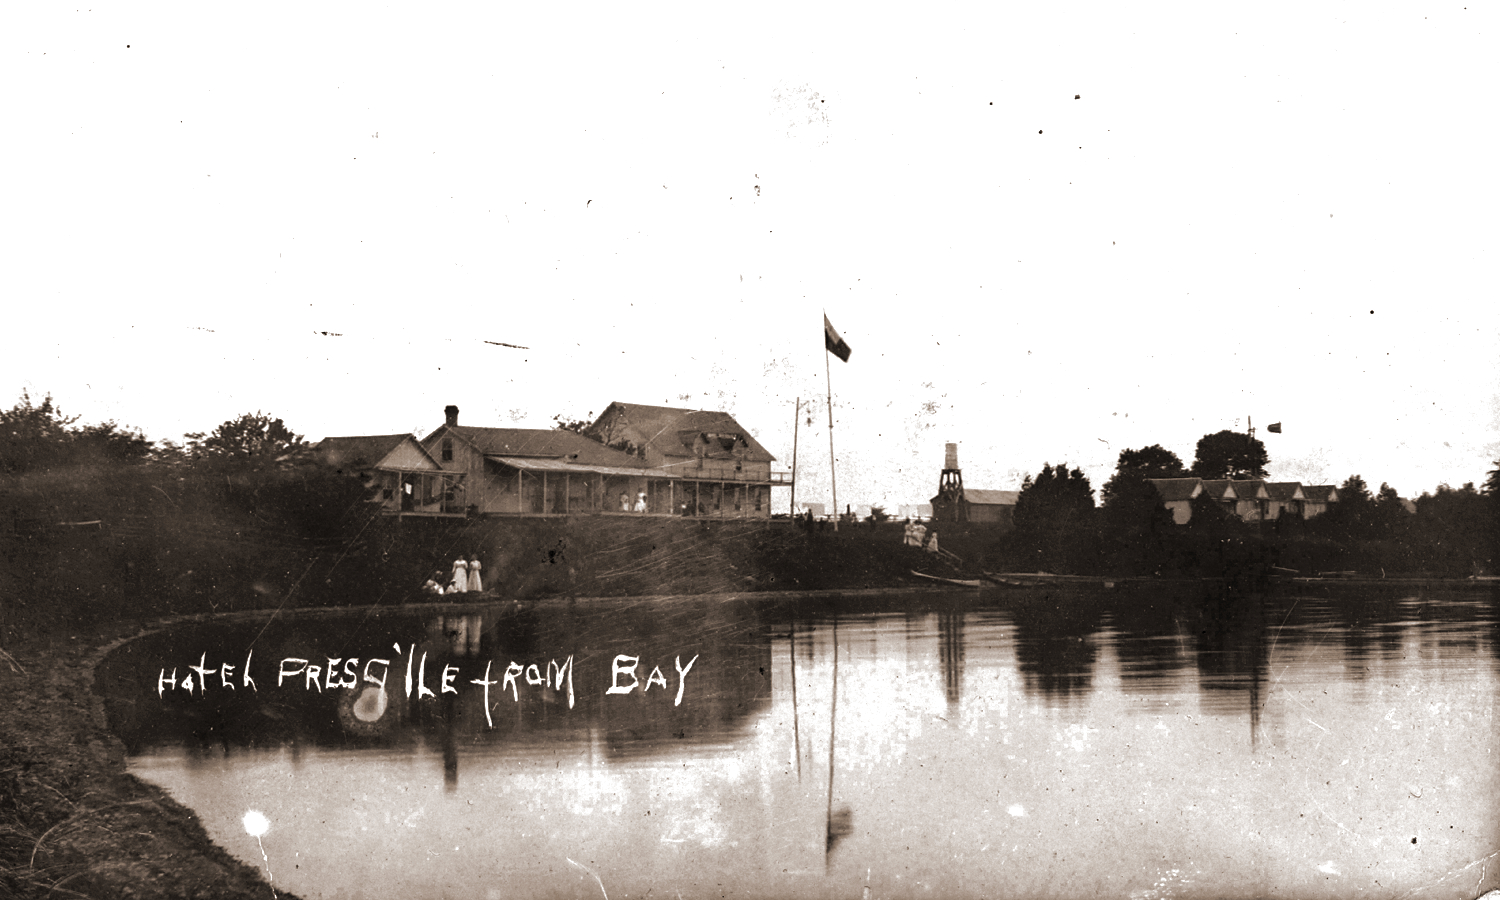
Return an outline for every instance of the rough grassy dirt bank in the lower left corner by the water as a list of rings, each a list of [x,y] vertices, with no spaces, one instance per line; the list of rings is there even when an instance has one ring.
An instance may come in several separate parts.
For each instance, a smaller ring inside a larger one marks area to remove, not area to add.
[[[136,630],[56,634],[0,658],[0,894],[272,897],[190,810],[124,772],[124,748],[98,714],[93,669]]]

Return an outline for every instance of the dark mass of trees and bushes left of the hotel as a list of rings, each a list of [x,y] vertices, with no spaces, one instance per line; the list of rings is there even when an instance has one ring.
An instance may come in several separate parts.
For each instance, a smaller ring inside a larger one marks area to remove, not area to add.
[[[153,441],[22,392],[0,410],[0,644],[104,616],[375,597],[388,548],[369,498],[274,416]]]

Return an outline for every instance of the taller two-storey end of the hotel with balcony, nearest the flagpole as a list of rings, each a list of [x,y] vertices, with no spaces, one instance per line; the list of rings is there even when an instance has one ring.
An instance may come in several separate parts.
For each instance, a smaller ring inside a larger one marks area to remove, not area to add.
[[[728,412],[612,402],[586,432],[640,460],[658,484],[650,512],[706,518],[770,518],[771,488],[792,484]]]

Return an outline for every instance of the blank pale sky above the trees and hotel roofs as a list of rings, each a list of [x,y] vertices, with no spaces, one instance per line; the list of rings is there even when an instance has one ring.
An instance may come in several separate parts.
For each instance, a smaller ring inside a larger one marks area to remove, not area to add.
[[[0,12],[0,404],[154,440],[730,411],[826,501],[1242,430],[1500,458],[1497,12],[1462,3]],[[518,345],[525,350],[496,346]],[[812,424],[808,424],[808,416]],[[1281,422],[1284,432],[1264,428]]]

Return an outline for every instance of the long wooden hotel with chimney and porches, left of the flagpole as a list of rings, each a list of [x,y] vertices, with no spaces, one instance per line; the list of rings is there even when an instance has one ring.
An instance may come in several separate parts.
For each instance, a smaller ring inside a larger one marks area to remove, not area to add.
[[[400,514],[658,514],[770,518],[776,459],[728,412],[610,404],[585,434],[459,424],[412,435],[324,438],[324,464],[378,489]],[[598,440],[594,440],[598,438]]]

